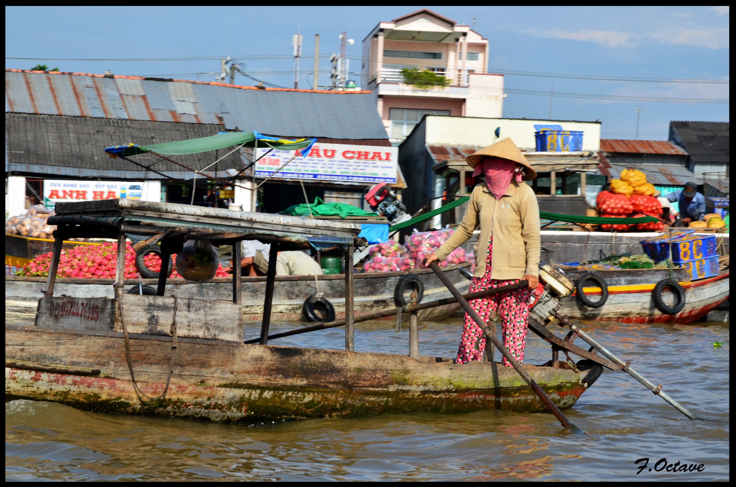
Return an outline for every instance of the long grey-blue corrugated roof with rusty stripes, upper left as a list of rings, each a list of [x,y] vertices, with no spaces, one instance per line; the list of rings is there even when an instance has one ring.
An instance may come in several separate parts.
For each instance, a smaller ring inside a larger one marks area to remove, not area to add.
[[[223,124],[360,141],[388,139],[369,91],[258,89],[179,79],[5,70],[5,111]]]

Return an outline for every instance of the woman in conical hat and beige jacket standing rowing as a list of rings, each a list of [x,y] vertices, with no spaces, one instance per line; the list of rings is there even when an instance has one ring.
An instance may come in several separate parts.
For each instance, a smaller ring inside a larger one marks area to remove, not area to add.
[[[470,305],[488,321],[498,312],[503,327],[503,345],[517,361],[524,359],[526,327],[531,289],[539,284],[539,205],[534,190],[525,182],[537,177],[516,144],[506,138],[466,157],[473,176],[483,174],[485,182],[475,186],[462,223],[444,245],[428,255],[426,263],[445,260],[467,241],[475,227],[481,235],[475,244],[475,273],[469,292],[529,282],[528,288],[507,291]],[[483,331],[465,313],[457,363],[483,360],[486,339]],[[510,367],[506,358],[503,365]]]

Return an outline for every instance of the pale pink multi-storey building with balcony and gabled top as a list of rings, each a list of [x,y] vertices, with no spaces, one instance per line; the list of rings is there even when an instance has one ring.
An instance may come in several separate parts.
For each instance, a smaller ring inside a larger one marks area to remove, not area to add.
[[[488,40],[470,26],[431,10],[380,22],[363,40],[361,85],[376,96],[393,143],[424,115],[501,116],[503,75],[488,72]],[[428,90],[407,85],[401,68],[435,71],[451,80]]]

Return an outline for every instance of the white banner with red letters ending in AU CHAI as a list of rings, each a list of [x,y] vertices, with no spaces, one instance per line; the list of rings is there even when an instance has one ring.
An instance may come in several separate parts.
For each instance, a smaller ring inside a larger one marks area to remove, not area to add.
[[[263,154],[268,154],[264,157]],[[305,157],[297,156],[274,178],[347,182],[396,182],[398,147],[316,143]],[[255,175],[268,177],[294,157],[294,151],[258,148]]]

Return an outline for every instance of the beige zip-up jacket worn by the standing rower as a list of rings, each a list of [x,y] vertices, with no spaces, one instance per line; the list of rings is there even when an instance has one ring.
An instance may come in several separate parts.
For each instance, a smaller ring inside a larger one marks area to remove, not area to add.
[[[539,205],[526,182],[512,181],[500,200],[490,193],[486,183],[475,186],[462,223],[435,255],[445,260],[478,225],[481,235],[475,243],[473,276],[486,273],[488,241],[493,235],[491,279],[521,279],[526,274],[539,277]]]

